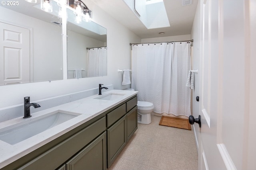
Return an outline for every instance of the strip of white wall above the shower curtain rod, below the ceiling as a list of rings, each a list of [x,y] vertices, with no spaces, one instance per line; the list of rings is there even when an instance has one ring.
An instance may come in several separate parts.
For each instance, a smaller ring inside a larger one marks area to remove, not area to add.
[[[144,38],[141,39],[142,43],[160,43],[160,42],[170,42],[170,41],[187,41],[190,40],[190,34],[188,35],[176,35],[168,37],[156,37],[156,38]]]

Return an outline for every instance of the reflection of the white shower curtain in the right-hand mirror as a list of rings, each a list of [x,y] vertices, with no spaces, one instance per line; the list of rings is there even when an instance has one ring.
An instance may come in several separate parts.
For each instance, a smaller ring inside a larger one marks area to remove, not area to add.
[[[88,49],[87,76],[107,75],[107,47]]]

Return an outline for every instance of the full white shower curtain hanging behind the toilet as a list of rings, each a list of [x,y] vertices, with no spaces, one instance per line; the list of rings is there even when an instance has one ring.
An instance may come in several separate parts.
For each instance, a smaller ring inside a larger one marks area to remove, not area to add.
[[[190,43],[132,45],[132,88],[138,100],[154,104],[155,113],[189,116]]]

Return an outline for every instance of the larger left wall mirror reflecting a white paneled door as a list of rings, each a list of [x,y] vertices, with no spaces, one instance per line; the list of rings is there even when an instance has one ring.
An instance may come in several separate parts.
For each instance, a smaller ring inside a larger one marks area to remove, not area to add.
[[[40,9],[24,0],[0,6],[0,85],[63,79],[59,6]]]

